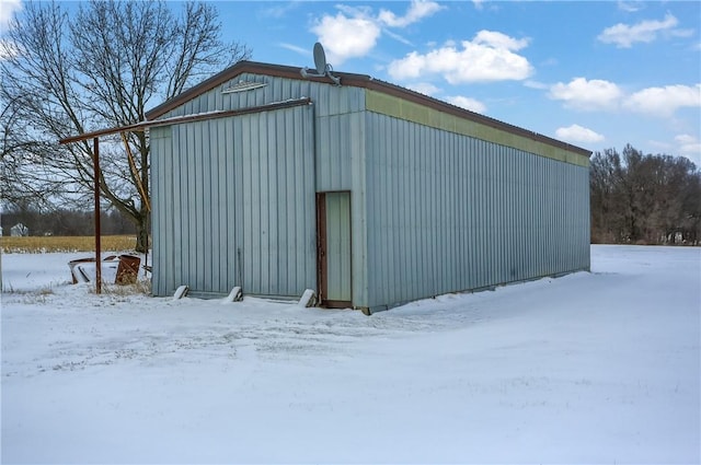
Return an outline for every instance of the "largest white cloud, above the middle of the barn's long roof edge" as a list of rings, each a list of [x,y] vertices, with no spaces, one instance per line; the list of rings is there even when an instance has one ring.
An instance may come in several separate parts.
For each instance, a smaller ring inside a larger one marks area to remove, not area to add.
[[[440,74],[449,83],[524,80],[532,74],[528,60],[515,54],[528,45],[528,39],[515,39],[492,31],[480,31],[461,48],[452,43],[425,55],[417,51],[392,61],[388,72],[393,79],[415,79]]]

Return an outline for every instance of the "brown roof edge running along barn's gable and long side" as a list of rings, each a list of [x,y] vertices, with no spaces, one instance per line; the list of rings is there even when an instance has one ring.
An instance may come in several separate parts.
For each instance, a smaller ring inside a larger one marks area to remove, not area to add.
[[[193,88],[184,91],[175,97],[163,102],[154,108],[146,113],[148,120],[153,120],[163,116],[168,112],[183,105],[184,103],[223,84],[227,81],[232,80],[239,74],[266,74],[276,78],[295,79],[300,81],[314,81],[322,82],[329,85],[334,85],[327,78],[308,77],[303,78],[300,73],[299,67],[290,67],[283,65],[262,63],[256,61],[239,61],[235,65],[225,69],[223,71],[212,75],[209,79],[196,84]],[[520,128],[518,126],[509,125],[508,123],[499,121],[498,119],[490,118],[489,116],[480,115],[479,113],[470,112],[464,108],[451,105],[447,102],[439,101],[434,97],[429,97],[418,92],[391,84],[389,82],[380,81],[369,77],[367,74],[355,74],[349,72],[333,72],[334,75],[341,78],[341,85],[369,89],[383,94],[388,94],[394,97],[403,98],[409,102],[413,102],[420,105],[427,106],[429,108],[437,109],[439,112],[447,113],[449,115],[458,116],[481,125],[490,126],[495,129],[501,129],[505,132],[510,132],[517,136],[526,137],[528,139],[537,140],[549,146],[555,146],[570,152],[575,152],[579,155],[589,158],[591,151],[583,149],[581,147],[572,146],[558,139],[552,139],[548,136],[540,135],[538,132],[530,131],[528,129]]]

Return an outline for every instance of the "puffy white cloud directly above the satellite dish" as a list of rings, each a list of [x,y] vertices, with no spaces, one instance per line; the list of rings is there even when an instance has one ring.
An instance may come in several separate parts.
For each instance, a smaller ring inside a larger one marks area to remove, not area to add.
[[[353,18],[343,12],[335,16],[324,15],[311,31],[324,45],[326,58],[333,66],[338,66],[348,58],[367,55],[380,36],[377,22],[361,12]]]

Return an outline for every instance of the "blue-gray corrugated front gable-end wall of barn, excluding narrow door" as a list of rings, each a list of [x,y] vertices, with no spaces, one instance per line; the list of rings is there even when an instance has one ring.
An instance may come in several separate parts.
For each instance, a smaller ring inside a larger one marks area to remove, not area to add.
[[[266,85],[222,92],[240,81]],[[363,90],[246,73],[162,118],[302,96],[313,104],[151,129],[154,295],[180,284],[212,295],[233,286],[279,297],[315,289],[314,193],[352,190],[363,205],[353,188],[363,173]],[[364,213],[353,212],[361,251]],[[361,257],[353,261],[360,299]]]

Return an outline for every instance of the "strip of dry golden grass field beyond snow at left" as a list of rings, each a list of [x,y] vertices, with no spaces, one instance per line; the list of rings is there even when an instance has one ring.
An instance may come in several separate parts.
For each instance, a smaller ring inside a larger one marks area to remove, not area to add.
[[[101,239],[104,252],[131,252],[136,246],[134,235],[105,235]],[[3,254],[36,254],[48,252],[92,252],[95,249],[93,236],[27,236],[0,237]]]

